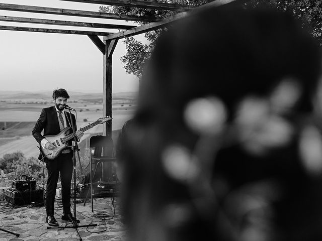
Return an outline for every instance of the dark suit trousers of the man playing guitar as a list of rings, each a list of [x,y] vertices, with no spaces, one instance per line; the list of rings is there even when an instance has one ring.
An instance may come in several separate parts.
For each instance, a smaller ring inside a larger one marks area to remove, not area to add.
[[[63,212],[70,213],[70,181],[73,171],[72,155],[73,152],[66,154],[61,153],[55,160],[46,161],[46,167],[48,171],[46,188],[47,216],[54,214],[54,203],[59,173],[61,181],[61,199]]]

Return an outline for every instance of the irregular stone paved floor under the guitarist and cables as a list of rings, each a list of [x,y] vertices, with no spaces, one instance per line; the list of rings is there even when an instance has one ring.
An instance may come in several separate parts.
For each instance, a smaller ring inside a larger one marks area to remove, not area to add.
[[[115,198],[114,207],[111,198],[94,199],[94,212],[92,212],[91,201],[76,204],[76,217],[81,221],[79,225],[97,224],[95,227],[79,227],[79,235],[84,241],[91,240],[123,240],[125,235],[124,226],[120,217],[120,205],[118,198]],[[55,206],[57,203],[55,203]],[[57,205],[59,206],[59,205]],[[16,237],[13,234],[6,233],[0,230],[0,241],[58,241],[58,240],[79,240],[75,228],[62,229],[66,222],[60,218],[62,209],[57,208],[55,218],[59,222],[60,229],[47,229],[45,223],[45,208],[44,207],[25,207],[9,208],[0,205],[0,228],[19,233]],[[8,210],[8,211],[7,211]],[[94,215],[96,214],[96,215]],[[102,221],[98,215],[107,215],[105,218],[110,219]],[[113,217],[113,218],[112,218]],[[68,224],[71,226],[71,224]]]

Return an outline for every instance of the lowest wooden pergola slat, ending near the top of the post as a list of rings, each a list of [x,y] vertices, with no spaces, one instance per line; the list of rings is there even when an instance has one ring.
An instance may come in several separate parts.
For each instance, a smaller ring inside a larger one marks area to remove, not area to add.
[[[106,35],[109,34],[109,33],[106,33],[106,32],[62,30],[62,29],[40,29],[40,28],[14,27],[14,26],[0,26],[0,30],[40,32],[40,33],[56,33],[56,34],[100,35],[100,36],[106,36]]]

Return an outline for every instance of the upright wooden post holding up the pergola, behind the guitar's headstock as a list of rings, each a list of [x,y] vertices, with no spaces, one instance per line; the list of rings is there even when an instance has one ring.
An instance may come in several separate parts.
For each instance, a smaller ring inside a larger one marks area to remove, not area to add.
[[[117,40],[103,39],[105,54],[103,55],[103,114],[112,117],[112,54]],[[112,120],[103,124],[103,136],[112,137]]]

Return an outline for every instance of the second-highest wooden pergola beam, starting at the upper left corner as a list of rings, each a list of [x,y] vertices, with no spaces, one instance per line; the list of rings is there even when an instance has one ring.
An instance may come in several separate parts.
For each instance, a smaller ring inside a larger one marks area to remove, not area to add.
[[[72,10],[72,9],[55,9],[55,8],[45,8],[45,7],[16,5],[16,4],[2,4],[2,3],[0,3],[0,10],[40,13],[40,14],[67,15],[67,16],[99,18],[99,19],[141,21],[141,22],[154,22],[154,21],[160,20],[159,18],[154,18],[154,17],[144,17],[144,16],[135,16],[135,15],[125,15],[125,14],[110,14],[110,13],[81,11],[81,10]]]

